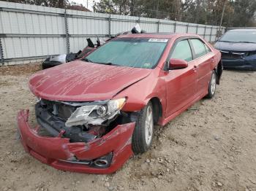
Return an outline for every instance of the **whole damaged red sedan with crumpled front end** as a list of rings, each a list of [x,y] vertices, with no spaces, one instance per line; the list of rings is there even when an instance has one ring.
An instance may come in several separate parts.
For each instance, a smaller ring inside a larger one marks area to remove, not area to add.
[[[214,96],[220,58],[200,36],[127,34],[39,71],[29,79],[37,127],[28,110],[18,113],[23,147],[57,169],[113,173],[151,147],[154,125]]]

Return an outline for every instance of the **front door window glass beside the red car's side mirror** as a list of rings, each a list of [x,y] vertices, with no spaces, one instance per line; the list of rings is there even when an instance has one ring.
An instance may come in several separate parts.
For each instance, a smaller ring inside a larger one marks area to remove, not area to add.
[[[187,62],[192,61],[192,52],[187,40],[182,40],[176,44],[174,47],[173,54],[170,58],[176,58],[185,60]]]

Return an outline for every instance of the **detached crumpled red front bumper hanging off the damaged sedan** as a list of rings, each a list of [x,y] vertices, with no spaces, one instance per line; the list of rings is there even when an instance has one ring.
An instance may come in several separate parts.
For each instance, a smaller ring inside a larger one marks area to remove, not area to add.
[[[29,110],[18,112],[18,130],[21,142],[26,152],[42,163],[63,171],[76,171],[89,174],[111,174],[121,168],[132,152],[132,133],[135,122],[118,125],[105,136],[88,143],[70,143],[69,139],[59,137],[39,136],[37,128],[31,128],[28,122]],[[94,168],[79,163],[68,163],[77,157],[78,160],[94,160],[112,152],[112,160],[108,168]]]

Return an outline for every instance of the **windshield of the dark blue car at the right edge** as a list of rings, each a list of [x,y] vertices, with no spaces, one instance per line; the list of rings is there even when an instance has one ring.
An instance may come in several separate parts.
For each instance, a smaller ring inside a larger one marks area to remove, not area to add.
[[[256,43],[256,31],[230,31],[222,36],[219,41]]]

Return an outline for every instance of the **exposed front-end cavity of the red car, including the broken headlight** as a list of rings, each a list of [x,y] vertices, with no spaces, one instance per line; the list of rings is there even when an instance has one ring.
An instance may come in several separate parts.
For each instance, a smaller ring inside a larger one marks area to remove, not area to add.
[[[41,126],[39,135],[55,137],[61,134],[70,142],[89,142],[104,136],[116,125],[136,121],[135,112],[121,112],[113,107],[113,101],[78,103],[41,99],[35,106]]]

